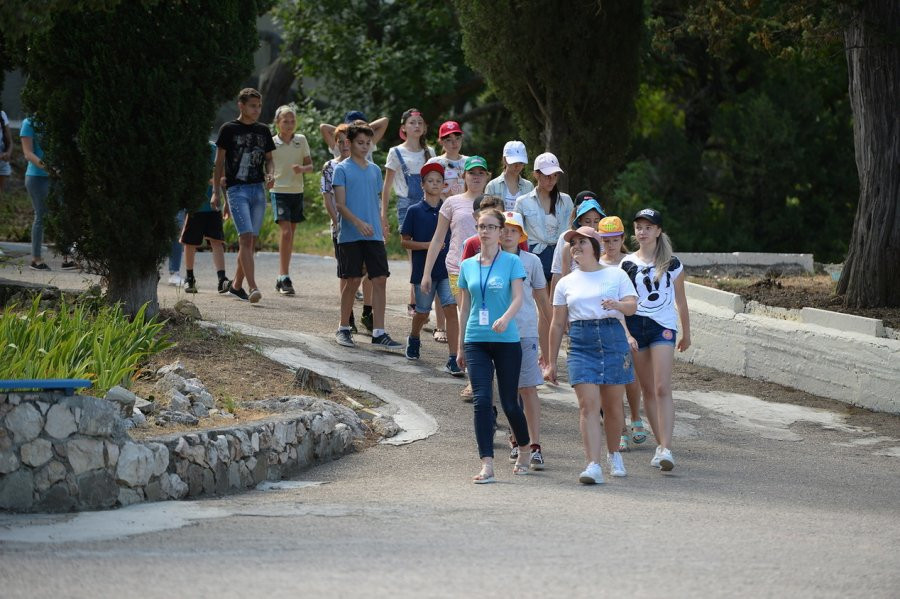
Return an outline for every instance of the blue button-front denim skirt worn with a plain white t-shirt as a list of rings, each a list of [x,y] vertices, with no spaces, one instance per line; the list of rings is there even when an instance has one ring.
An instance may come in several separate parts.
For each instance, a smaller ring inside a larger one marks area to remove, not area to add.
[[[631,350],[615,318],[569,323],[569,384],[626,385],[634,381]]]

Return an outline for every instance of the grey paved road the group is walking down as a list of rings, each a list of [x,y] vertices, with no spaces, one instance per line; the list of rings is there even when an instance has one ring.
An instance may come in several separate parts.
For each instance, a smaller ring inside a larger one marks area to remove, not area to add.
[[[648,444],[626,454],[627,478],[584,487],[573,395],[548,389],[547,470],[514,478],[498,459],[498,484],[476,486],[471,407],[438,371],[444,346],[423,343],[418,365],[367,347],[338,350],[333,260],[296,257],[298,295],[263,288],[250,306],[211,291],[208,258],[200,256],[194,298],[204,315],[287,331],[271,333],[280,337],[271,348],[294,356],[285,360],[338,364],[422,408],[436,432],[265,491],[0,516],[3,597],[898,596],[896,417],[766,402],[725,383],[677,389],[676,469],[650,468]],[[259,263],[271,289],[275,256]],[[399,338],[409,323],[398,283],[407,271],[392,269],[388,330]],[[85,280],[9,265],[0,276]],[[164,304],[180,296],[160,287]]]

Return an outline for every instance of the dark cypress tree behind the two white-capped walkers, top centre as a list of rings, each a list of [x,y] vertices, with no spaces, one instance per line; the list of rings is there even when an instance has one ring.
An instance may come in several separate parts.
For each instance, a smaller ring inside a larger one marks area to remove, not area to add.
[[[456,1],[466,60],[512,112],[529,154],[557,154],[573,189],[601,188],[624,162],[642,4]]]

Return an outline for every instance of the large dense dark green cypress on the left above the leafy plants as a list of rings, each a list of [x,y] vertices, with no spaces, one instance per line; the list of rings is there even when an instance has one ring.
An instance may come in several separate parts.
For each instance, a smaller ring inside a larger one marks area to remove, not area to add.
[[[236,95],[266,0],[56,5],[30,35],[24,99],[57,179],[51,229],[135,312],[158,309],[175,214],[210,176],[216,107]]]

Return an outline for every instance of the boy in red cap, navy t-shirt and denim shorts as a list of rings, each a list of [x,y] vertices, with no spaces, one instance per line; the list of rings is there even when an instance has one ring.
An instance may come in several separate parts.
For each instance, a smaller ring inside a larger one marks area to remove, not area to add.
[[[425,194],[425,199],[409,207],[400,229],[403,247],[411,250],[412,274],[409,277],[409,282],[413,285],[416,299],[416,313],[413,316],[409,337],[406,339],[406,358],[409,360],[417,360],[419,358],[419,348],[421,346],[419,335],[422,332],[422,327],[428,321],[428,313],[431,311],[431,304],[434,303],[434,297],[437,294],[441,307],[452,306],[452,309],[444,310],[447,323],[447,350],[450,354],[447,364],[444,366],[444,371],[460,377],[463,376],[463,371],[456,363],[456,348],[459,344],[456,298],[453,296],[453,290],[450,288],[450,277],[447,274],[447,266],[444,264],[444,259],[447,256],[447,245],[450,241],[449,231],[444,239],[444,245],[440,254],[435,260],[434,267],[431,269],[431,288],[428,293],[423,292],[421,288],[422,276],[425,273],[425,257],[428,254],[431,238],[434,237],[434,232],[437,229],[438,215],[443,203],[441,190],[444,187],[444,167],[439,163],[432,162],[423,166],[419,174],[422,178],[422,190]]]

